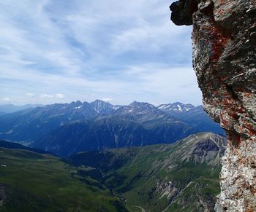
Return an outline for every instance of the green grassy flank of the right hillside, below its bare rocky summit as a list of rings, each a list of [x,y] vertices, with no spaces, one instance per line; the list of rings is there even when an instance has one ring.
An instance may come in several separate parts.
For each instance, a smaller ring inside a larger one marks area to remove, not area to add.
[[[184,139],[174,145],[109,150],[113,155],[109,159],[109,168],[105,169],[105,184],[124,197],[129,205],[142,206],[146,211],[162,211],[191,182],[167,211],[213,210],[219,193],[220,165],[185,162],[183,157],[194,144],[194,141],[189,143]],[[83,161],[83,157],[80,160]],[[171,181],[177,188],[170,198],[157,190],[157,183],[162,181]],[[130,209],[138,211],[138,208]]]

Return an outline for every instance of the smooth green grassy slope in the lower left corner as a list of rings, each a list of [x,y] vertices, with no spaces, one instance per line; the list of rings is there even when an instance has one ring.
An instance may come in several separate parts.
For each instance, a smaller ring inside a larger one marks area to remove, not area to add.
[[[0,163],[9,197],[1,211],[124,211],[108,189],[58,157],[0,148]]]

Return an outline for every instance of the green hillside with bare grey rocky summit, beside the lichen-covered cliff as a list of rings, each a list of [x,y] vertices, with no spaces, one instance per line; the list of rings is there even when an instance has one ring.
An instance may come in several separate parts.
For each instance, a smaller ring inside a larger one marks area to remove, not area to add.
[[[100,181],[137,209],[214,211],[224,152],[225,138],[199,133],[171,145],[81,152],[70,162],[95,168]]]

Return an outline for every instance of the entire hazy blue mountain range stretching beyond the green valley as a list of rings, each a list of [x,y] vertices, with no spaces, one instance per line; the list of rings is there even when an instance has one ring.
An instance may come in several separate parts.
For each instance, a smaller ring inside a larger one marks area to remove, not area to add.
[[[170,144],[191,134],[223,134],[201,106],[169,103],[158,107],[134,101],[56,103],[0,116],[0,138],[68,157],[75,152],[123,146]]]

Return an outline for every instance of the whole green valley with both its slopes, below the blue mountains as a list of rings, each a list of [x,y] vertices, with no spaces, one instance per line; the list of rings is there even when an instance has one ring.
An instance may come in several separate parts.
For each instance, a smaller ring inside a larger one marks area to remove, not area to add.
[[[1,209],[213,211],[225,142],[199,133],[175,144],[79,152],[62,160],[1,141]]]

